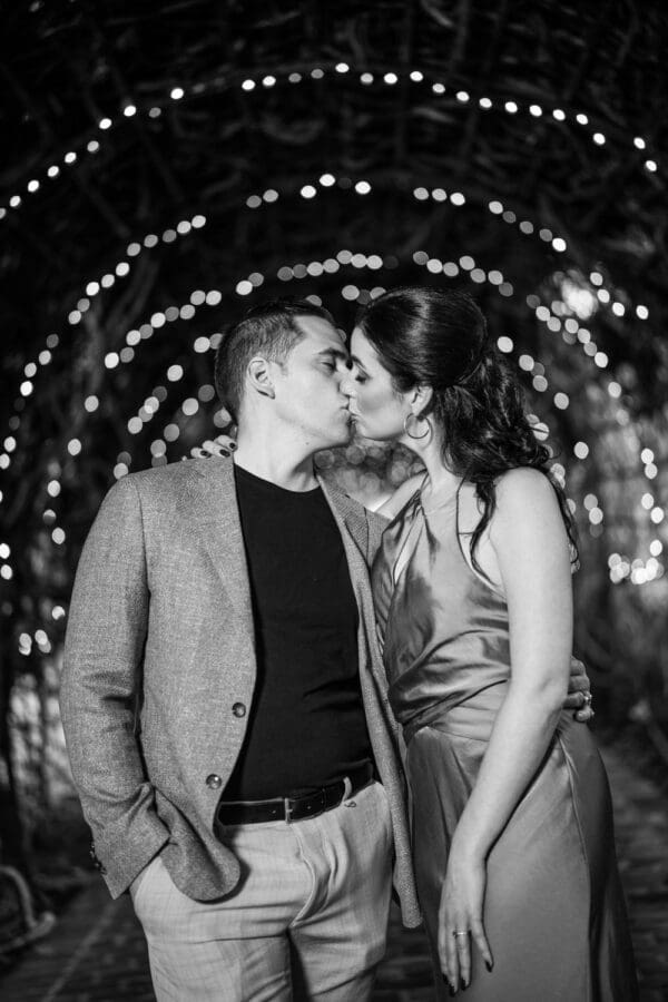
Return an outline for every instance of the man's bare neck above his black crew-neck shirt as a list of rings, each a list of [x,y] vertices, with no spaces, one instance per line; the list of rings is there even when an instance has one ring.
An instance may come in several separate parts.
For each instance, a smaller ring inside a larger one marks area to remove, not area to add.
[[[282,442],[277,435],[239,429],[234,461],[248,473],[288,491],[310,491],[317,485],[313,453],[304,445]]]

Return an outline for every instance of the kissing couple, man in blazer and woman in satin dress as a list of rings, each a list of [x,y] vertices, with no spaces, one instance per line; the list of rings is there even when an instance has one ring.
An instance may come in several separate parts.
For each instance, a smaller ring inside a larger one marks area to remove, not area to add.
[[[474,301],[391,289],[350,352],[268,302],[215,381],[235,442],[109,491],[66,638],[72,775],[159,1002],[369,1000],[392,886],[438,999],[632,1002],[572,520]],[[314,465],[353,426],[424,466],[376,512]]]

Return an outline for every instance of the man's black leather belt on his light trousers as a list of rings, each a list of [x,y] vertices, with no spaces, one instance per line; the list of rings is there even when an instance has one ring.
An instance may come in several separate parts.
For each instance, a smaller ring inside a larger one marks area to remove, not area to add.
[[[357,793],[373,778],[373,765],[367,762],[348,773],[348,796]],[[272,797],[268,800],[222,800],[216,812],[219,825],[253,825],[267,821],[295,822],[315,817],[337,807],[346,793],[344,779],[322,786],[299,797]]]

